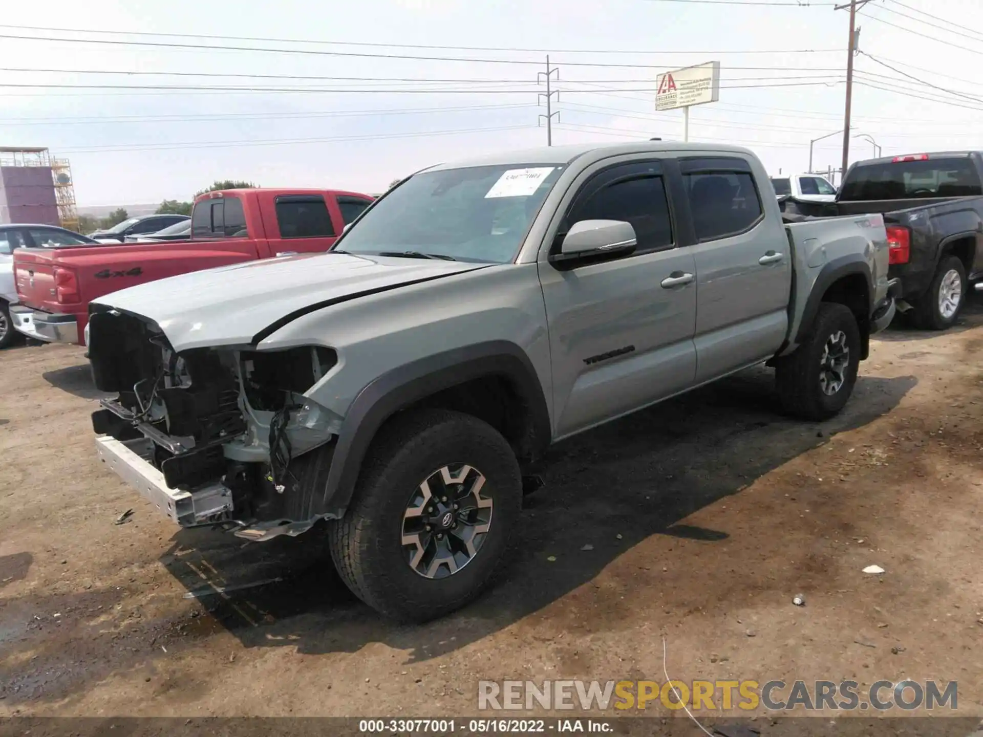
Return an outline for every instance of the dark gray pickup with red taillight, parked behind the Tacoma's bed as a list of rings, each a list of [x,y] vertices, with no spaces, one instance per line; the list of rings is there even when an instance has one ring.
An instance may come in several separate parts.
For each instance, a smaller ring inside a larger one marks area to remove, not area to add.
[[[858,161],[835,202],[780,198],[786,215],[884,215],[900,311],[951,326],[970,284],[983,288],[983,153],[946,151]],[[910,308],[910,310],[908,309]]]

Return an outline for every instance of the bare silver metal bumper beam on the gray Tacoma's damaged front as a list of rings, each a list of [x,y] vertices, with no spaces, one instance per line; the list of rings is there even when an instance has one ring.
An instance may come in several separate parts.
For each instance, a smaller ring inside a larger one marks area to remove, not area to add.
[[[99,460],[181,527],[231,521],[232,491],[221,483],[210,483],[194,491],[171,488],[163,474],[145,460],[145,455],[152,452],[150,440],[117,440],[99,435],[95,448]]]

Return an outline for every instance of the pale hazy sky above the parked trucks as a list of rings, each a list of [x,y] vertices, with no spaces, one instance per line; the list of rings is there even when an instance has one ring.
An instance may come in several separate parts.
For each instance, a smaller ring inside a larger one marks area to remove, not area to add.
[[[548,55],[554,144],[682,140],[656,77],[720,61],[690,141],[745,145],[778,175],[835,134],[813,169],[841,159],[849,17],[832,2],[49,0],[8,2],[0,24],[0,145],[70,159],[80,206],[221,179],[378,193],[543,145]],[[983,3],[871,0],[857,25],[851,161],[868,137],[883,155],[981,147]]]

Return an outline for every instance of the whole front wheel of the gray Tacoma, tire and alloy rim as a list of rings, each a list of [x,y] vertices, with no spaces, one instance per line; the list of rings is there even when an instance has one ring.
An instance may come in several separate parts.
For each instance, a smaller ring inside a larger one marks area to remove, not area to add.
[[[351,506],[328,527],[331,557],[367,604],[424,622],[489,584],[521,508],[518,463],[491,425],[446,410],[409,412],[373,443]]]

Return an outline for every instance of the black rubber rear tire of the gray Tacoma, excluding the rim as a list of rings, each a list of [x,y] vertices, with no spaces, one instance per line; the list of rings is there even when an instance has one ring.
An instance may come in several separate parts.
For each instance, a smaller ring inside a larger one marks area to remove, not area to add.
[[[827,341],[839,332],[845,336],[849,356],[842,385],[830,395],[821,385],[822,360]],[[850,398],[859,364],[860,328],[853,312],[843,305],[822,303],[799,347],[777,362],[775,379],[785,412],[817,422],[836,416]]]

